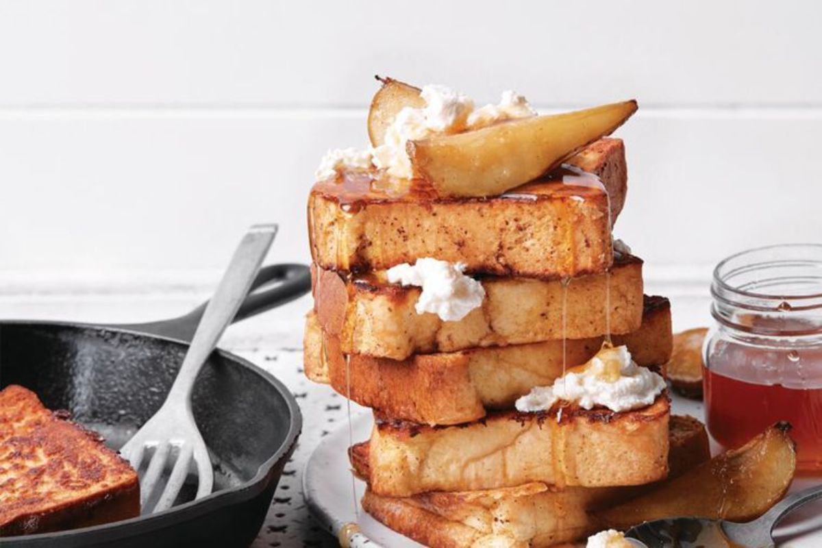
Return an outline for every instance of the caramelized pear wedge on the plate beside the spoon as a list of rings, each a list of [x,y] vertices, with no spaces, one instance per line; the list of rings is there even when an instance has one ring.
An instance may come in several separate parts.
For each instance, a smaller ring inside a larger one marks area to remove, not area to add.
[[[657,489],[598,513],[603,527],[627,529],[654,519],[695,516],[746,522],[765,513],[791,485],[797,454],[779,423],[739,449],[707,463]]]

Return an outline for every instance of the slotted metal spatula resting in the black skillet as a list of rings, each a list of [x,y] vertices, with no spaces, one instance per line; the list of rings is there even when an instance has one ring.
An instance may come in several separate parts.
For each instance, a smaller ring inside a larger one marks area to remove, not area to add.
[[[205,308],[163,407],[120,449],[122,457],[132,463],[135,470],[140,469],[145,456],[153,451],[140,478],[141,512],[144,514],[171,507],[186,481],[192,461],[196,465],[193,467],[197,476],[196,499],[211,493],[214,471],[208,449],[194,423],[192,387],[205,360],[237,314],[276,233],[276,225],[256,225],[242,238],[214,297]],[[171,474],[158,497],[155,490],[161,484],[166,461],[175,455]],[[151,504],[155,500],[156,503]]]

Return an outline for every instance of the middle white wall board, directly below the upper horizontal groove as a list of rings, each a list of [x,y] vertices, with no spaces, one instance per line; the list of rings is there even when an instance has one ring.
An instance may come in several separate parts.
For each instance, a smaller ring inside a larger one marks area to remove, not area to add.
[[[0,270],[216,269],[248,224],[269,220],[282,225],[273,257],[307,260],[316,163],[330,146],[363,143],[363,118],[7,114]],[[819,241],[822,112],[649,109],[619,135],[630,191],[616,233],[649,265]]]

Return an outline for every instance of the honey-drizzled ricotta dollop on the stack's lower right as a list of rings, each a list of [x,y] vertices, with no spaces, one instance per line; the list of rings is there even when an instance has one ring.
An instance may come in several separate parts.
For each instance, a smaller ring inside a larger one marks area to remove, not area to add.
[[[563,400],[584,409],[602,406],[615,412],[630,411],[650,405],[664,389],[663,377],[636,365],[626,346],[603,347],[588,363],[571,369],[552,386],[531,389],[515,406],[520,412],[547,411]]]

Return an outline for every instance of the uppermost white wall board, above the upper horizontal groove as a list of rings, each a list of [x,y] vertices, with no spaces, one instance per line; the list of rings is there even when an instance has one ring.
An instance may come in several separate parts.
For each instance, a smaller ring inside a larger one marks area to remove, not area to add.
[[[5,0],[0,105],[364,105],[375,72],[479,100],[822,104],[822,4]]]

